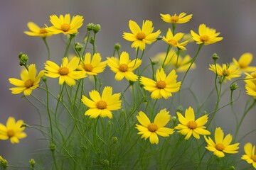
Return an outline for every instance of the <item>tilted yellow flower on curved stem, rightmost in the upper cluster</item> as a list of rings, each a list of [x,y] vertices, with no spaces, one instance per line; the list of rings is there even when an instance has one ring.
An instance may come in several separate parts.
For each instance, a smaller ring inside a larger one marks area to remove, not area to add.
[[[216,33],[215,29],[208,28],[206,24],[203,23],[198,28],[198,34],[191,30],[191,35],[197,44],[203,43],[203,45],[209,45],[223,40],[222,37],[218,37],[220,33]]]

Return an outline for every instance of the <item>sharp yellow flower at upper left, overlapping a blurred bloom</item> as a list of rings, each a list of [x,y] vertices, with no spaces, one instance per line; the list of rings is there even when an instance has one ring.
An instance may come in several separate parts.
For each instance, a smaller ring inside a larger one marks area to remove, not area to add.
[[[73,16],[73,18],[70,21],[70,14],[65,14],[65,16],[60,15],[52,15],[50,16],[50,23],[53,24],[51,27],[47,27],[46,30],[48,30],[50,33],[53,34],[75,34],[78,33],[78,28],[82,26],[83,18],[82,16]]]

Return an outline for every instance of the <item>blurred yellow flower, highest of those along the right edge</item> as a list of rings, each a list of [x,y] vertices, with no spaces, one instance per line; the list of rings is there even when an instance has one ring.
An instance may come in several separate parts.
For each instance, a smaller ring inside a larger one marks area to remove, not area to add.
[[[242,72],[255,72],[256,67],[250,67],[249,64],[252,62],[253,55],[250,52],[246,52],[241,55],[239,60],[233,58],[233,62],[238,69]]]

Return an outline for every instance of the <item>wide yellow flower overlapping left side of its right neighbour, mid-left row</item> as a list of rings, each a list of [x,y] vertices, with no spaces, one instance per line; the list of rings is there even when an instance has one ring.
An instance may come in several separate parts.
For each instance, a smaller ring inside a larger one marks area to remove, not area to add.
[[[63,84],[64,82],[68,84],[68,86],[74,86],[75,80],[82,79],[86,77],[85,71],[77,71],[78,64],[80,62],[79,57],[73,57],[70,62],[68,62],[68,58],[64,57],[61,66],[55,62],[51,62],[50,60],[46,61],[45,69],[46,76],[50,78],[58,78],[59,84]]]

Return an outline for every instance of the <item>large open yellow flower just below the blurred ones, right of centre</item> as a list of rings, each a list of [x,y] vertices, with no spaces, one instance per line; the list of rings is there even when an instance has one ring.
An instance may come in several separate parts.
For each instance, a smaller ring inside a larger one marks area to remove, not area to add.
[[[177,82],[177,77],[174,69],[166,77],[164,69],[161,68],[156,71],[156,81],[146,77],[141,77],[140,81],[144,85],[144,89],[151,92],[151,98],[159,99],[164,97],[167,99],[172,96],[171,93],[180,89],[181,81]]]

